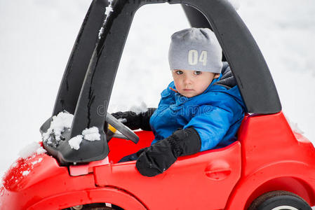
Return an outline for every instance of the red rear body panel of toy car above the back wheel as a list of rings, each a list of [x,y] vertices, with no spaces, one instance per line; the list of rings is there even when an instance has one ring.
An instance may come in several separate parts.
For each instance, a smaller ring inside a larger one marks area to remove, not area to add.
[[[315,150],[302,134],[293,133],[282,112],[248,116],[239,130],[242,176],[227,209],[246,209],[272,190],[300,195],[314,206]]]

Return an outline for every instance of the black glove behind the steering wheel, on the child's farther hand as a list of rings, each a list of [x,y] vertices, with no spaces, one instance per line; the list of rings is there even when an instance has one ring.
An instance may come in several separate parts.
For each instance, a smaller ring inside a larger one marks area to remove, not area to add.
[[[133,111],[124,111],[124,112],[116,112],[112,113],[116,119],[126,119],[122,120],[121,123],[129,127],[131,130],[137,130],[141,128],[142,130],[151,130],[150,127],[150,118],[154,113],[155,108],[149,108],[146,112],[136,114]]]

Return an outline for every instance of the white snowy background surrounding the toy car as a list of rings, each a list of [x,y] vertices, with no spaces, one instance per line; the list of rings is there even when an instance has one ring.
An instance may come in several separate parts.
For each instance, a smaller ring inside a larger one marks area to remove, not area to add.
[[[51,117],[62,73],[91,1],[0,0],[0,176]],[[262,50],[283,112],[315,142],[315,2],[243,0],[238,10]],[[189,27],[163,3],[135,14],[109,111],[156,107],[171,80],[170,35]],[[114,44],[114,43],[113,43]],[[279,148],[281,149],[281,148]],[[295,154],[299,155],[299,154]]]

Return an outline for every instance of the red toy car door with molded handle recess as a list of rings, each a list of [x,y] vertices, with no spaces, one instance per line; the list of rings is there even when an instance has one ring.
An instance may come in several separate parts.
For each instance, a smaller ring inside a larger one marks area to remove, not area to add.
[[[142,176],[135,161],[95,167],[97,186],[128,190],[148,209],[223,209],[241,176],[241,145],[185,156],[167,172]]]

